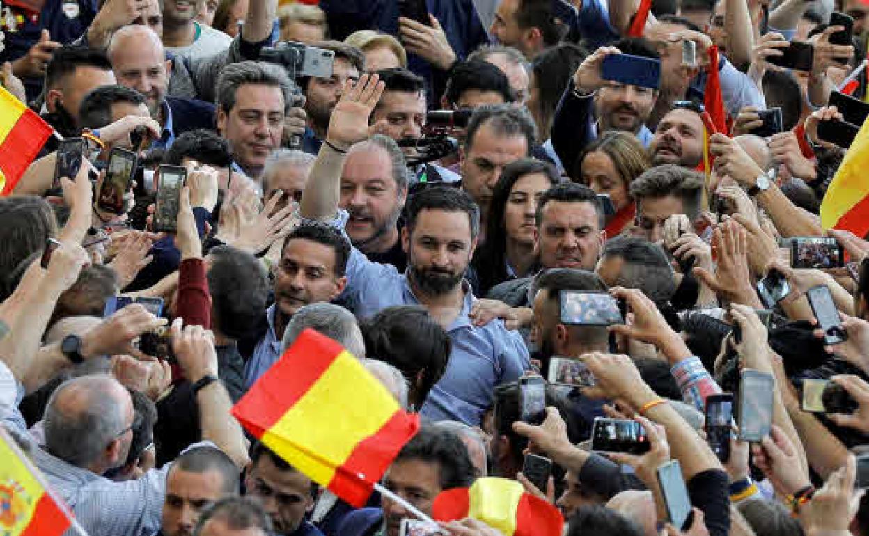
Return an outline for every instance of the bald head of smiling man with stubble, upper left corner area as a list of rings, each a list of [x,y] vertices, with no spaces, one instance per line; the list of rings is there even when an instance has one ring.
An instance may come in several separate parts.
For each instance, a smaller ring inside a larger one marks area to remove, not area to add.
[[[111,38],[109,61],[117,83],[142,93],[156,117],[169,89],[171,69],[160,37],[142,24],[124,26]]]

